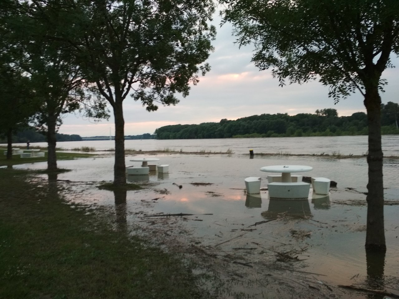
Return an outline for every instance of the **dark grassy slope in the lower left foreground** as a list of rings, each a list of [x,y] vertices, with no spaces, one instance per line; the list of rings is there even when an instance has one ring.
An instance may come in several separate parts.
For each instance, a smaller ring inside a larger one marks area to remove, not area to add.
[[[209,298],[113,213],[71,208],[56,180],[29,176],[0,169],[0,298]]]

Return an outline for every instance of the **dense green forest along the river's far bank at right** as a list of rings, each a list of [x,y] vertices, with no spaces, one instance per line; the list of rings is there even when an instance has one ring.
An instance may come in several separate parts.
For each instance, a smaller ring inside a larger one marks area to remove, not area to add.
[[[382,134],[399,134],[398,104],[382,104]],[[367,135],[367,115],[356,112],[338,116],[335,109],[316,110],[315,114],[261,114],[237,120],[202,124],[178,124],[155,130],[157,139],[253,138]]]

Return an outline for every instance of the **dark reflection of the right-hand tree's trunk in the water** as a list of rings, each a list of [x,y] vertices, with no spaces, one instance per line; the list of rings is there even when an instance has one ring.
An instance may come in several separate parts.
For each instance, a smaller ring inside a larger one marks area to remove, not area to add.
[[[385,251],[366,250],[366,264],[367,264],[367,288],[373,290],[384,289],[384,266],[385,266]],[[383,299],[382,294],[369,294],[369,299]]]

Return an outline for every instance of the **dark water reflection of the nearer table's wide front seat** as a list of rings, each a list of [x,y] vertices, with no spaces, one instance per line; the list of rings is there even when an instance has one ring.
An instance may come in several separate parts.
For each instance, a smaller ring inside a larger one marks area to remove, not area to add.
[[[270,199],[269,209],[267,210],[267,212],[262,212],[261,215],[266,218],[276,218],[277,216],[279,216],[279,214],[286,214],[301,218],[312,217],[309,201],[307,199]]]

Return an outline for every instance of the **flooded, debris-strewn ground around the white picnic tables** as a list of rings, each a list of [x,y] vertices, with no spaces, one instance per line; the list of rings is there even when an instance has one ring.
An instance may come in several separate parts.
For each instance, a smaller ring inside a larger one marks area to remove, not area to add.
[[[365,158],[157,157],[160,164],[170,165],[170,173],[140,178],[146,187],[140,191],[96,188],[112,181],[113,157],[59,161],[59,168],[72,171],[57,179],[72,190],[66,195],[71,203],[108,207],[119,228],[186,254],[202,265],[198,273],[218,273],[227,282],[221,298],[384,298],[338,285],[399,295],[397,160],[384,163],[387,252],[366,256]],[[126,165],[139,164],[126,157]],[[266,190],[255,196],[245,193],[245,177],[262,177],[266,188],[267,173],[259,168],[281,164],[310,165],[313,171],[302,175],[328,177],[337,188],[327,197],[313,195],[311,189],[309,199],[302,201],[269,200]]]

